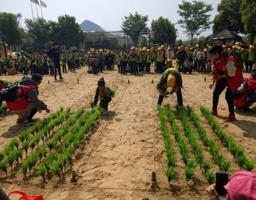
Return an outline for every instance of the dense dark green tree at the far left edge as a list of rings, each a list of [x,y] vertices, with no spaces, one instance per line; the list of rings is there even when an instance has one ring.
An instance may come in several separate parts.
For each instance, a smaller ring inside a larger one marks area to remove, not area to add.
[[[23,42],[24,32],[19,27],[16,14],[0,13],[0,30],[5,36],[5,42],[9,45],[20,45]]]

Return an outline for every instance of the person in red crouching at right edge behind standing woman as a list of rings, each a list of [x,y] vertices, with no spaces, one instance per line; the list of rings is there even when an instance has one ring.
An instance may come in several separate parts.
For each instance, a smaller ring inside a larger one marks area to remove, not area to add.
[[[256,72],[254,72],[234,93],[234,105],[245,112],[254,112],[249,107],[256,102]]]

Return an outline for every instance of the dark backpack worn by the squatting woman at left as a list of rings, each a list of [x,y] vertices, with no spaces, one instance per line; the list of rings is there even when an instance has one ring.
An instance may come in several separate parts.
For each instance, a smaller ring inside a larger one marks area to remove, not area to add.
[[[10,85],[4,87],[0,91],[0,106],[2,105],[3,101],[12,102],[18,97],[25,96],[25,94],[23,93],[23,90],[22,90],[23,95],[17,96],[17,89],[19,88],[18,84],[19,84],[19,82],[17,81],[14,84],[10,84]],[[22,89],[22,87],[21,87],[21,89]]]

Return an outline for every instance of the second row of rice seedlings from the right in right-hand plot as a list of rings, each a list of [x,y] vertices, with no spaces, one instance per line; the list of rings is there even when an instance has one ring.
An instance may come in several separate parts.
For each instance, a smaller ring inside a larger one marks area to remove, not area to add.
[[[223,154],[219,153],[219,146],[216,144],[216,142],[211,138],[209,139],[206,133],[206,129],[202,126],[201,120],[197,113],[195,113],[190,106],[187,106],[187,110],[201,141],[206,146],[206,148],[209,147],[209,153],[212,155],[213,159],[218,163],[218,166],[222,167],[224,171],[227,172],[231,168],[231,161],[226,161],[226,157]],[[207,171],[209,170],[209,164],[206,163],[205,165],[206,175]]]

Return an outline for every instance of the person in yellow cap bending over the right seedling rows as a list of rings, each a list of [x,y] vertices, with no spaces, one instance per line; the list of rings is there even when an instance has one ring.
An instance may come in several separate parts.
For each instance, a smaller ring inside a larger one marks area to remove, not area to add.
[[[157,84],[157,89],[159,92],[159,98],[158,98],[158,105],[161,105],[163,102],[163,98],[168,98],[165,94],[167,91],[167,88],[172,88],[172,91],[170,92],[170,95],[176,92],[177,94],[177,101],[179,106],[183,106],[183,100],[182,100],[182,78],[180,72],[176,68],[169,68],[165,70],[165,72],[162,74],[161,79],[159,80]]]

